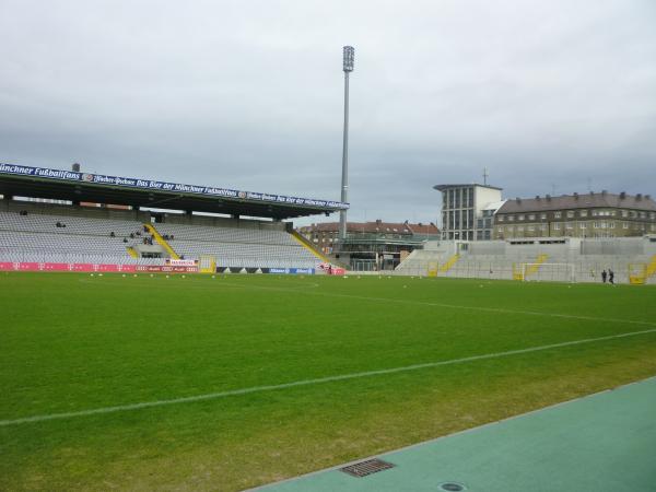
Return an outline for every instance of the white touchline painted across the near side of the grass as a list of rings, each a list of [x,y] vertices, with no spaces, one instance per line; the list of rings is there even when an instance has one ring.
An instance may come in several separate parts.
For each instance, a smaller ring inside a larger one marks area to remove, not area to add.
[[[91,410],[80,410],[77,412],[50,413],[50,414],[45,414],[45,415],[24,417],[21,419],[0,420],[0,426],[19,425],[19,424],[31,423],[31,422],[43,422],[46,420],[72,419],[75,417],[87,417],[87,415],[96,415],[96,414],[101,414],[101,413],[114,413],[114,412],[121,412],[121,411],[129,411],[129,410],[139,410],[142,408],[163,407],[166,405],[188,403],[188,402],[192,402],[192,401],[213,400],[213,399],[225,398],[225,397],[231,397],[231,396],[248,395],[251,393],[262,393],[262,391],[272,391],[276,389],[293,388],[296,386],[309,386],[309,385],[318,385],[321,383],[332,383],[332,382],[337,382],[337,380],[355,379],[355,378],[360,378],[360,377],[379,376],[383,374],[403,373],[403,372],[408,372],[408,371],[417,371],[417,370],[422,370],[422,368],[427,368],[427,367],[438,367],[442,365],[462,364],[465,362],[473,362],[473,361],[482,361],[485,359],[504,358],[504,356],[517,355],[517,354],[522,354],[522,353],[538,352],[541,350],[558,349],[560,347],[578,345],[582,343],[591,343],[591,342],[596,342],[596,341],[613,340],[613,339],[626,338],[626,337],[635,337],[639,335],[646,335],[646,333],[654,333],[654,332],[656,332],[656,328],[652,329],[652,330],[633,331],[630,333],[619,333],[619,335],[610,335],[607,337],[585,338],[583,340],[573,340],[573,341],[561,342],[561,343],[551,343],[549,345],[530,347],[528,349],[508,350],[506,352],[494,352],[494,353],[488,353],[488,354],[483,354],[483,355],[471,355],[468,358],[452,359],[448,361],[426,362],[423,364],[406,365],[406,366],[401,366],[401,367],[391,367],[391,368],[386,368],[386,370],[365,371],[362,373],[352,373],[352,374],[341,374],[339,376],[327,376],[327,377],[319,377],[316,379],[303,379],[303,380],[296,380],[296,382],[292,382],[292,383],[283,383],[280,385],[253,386],[250,388],[231,389],[227,391],[210,393],[210,394],[206,394],[206,395],[197,395],[197,396],[181,397],[181,398],[172,398],[172,399],[167,399],[167,400],[144,401],[141,403],[119,405],[116,407],[104,407],[104,408],[96,408],[96,409],[91,409]]]

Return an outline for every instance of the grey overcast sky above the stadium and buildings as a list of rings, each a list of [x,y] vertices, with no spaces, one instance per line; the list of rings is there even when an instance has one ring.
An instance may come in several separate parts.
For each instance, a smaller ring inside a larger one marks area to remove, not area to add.
[[[656,195],[654,0],[0,0],[0,162],[339,199],[347,44],[350,220]]]

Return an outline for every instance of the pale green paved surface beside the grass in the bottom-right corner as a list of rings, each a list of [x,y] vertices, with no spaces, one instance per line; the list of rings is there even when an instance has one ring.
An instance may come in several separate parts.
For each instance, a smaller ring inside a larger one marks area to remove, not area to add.
[[[330,469],[266,492],[656,491],[656,378],[377,456],[367,477]]]

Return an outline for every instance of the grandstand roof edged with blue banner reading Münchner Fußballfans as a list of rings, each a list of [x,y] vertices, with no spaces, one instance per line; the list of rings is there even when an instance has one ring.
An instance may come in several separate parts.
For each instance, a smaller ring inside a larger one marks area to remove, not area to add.
[[[271,219],[329,214],[349,208],[339,201],[2,163],[0,195]]]

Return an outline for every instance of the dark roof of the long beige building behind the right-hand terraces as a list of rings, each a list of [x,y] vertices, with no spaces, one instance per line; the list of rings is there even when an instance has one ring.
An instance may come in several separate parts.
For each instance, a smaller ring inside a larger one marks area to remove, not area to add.
[[[541,212],[548,210],[621,208],[656,211],[656,202],[648,195],[626,195],[589,192],[584,195],[563,195],[562,197],[516,198],[506,200],[496,213]]]

